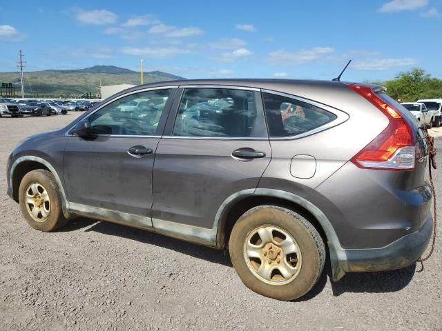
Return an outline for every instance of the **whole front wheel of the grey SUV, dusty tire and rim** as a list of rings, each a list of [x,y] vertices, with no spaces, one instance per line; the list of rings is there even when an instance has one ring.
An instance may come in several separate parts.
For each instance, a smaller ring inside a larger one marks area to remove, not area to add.
[[[19,203],[23,217],[36,230],[50,232],[67,223],[57,182],[48,170],[33,170],[23,177]]]

